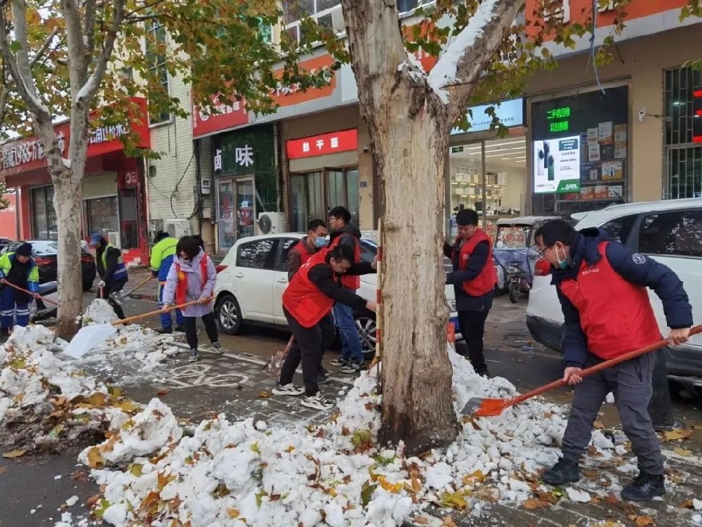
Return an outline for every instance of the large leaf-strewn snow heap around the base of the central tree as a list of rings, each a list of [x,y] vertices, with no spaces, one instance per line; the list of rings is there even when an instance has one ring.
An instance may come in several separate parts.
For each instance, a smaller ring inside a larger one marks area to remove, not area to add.
[[[479,377],[467,360],[450,355],[457,412],[471,397],[516,392],[505,379]],[[154,399],[132,424],[81,453],[82,462],[105,464],[92,471],[104,484],[95,514],[117,526],[396,525],[430,502],[527,500],[538,487],[534,474],[557,459],[557,450],[545,446],[562,437],[562,408],[539,401],[500,417],[464,418],[446,453],[405,457],[402,445],[379,448],[375,387],[368,373],[359,377],[324,426],[269,429],[220,415],[183,438],[171,412]],[[109,468],[114,462],[119,467]],[[578,500],[584,494],[573,492]]]

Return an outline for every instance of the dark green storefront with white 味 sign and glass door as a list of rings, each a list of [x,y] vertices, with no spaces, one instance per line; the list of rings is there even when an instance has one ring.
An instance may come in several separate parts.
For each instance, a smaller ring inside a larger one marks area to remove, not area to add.
[[[226,252],[239,238],[260,234],[261,213],[280,210],[273,126],[218,134],[212,148],[217,249]]]

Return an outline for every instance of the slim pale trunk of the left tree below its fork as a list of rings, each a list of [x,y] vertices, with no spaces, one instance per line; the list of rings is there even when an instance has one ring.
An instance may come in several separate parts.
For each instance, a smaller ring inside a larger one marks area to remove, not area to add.
[[[69,340],[79,328],[77,318],[83,311],[80,237],[82,177],[64,168],[52,175],[52,179],[53,207],[58,226],[58,290],[61,299],[56,334]]]

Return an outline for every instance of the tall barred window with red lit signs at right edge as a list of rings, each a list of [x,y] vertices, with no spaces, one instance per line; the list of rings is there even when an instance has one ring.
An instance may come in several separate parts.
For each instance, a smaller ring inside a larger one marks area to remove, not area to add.
[[[702,197],[702,71],[665,71],[665,199]]]

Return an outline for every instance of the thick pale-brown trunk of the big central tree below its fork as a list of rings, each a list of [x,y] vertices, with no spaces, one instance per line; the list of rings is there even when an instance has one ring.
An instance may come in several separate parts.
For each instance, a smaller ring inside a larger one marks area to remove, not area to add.
[[[386,270],[380,441],[404,441],[409,454],[448,445],[458,433],[446,352],[443,126],[424,108],[411,117],[406,103],[369,122]]]

